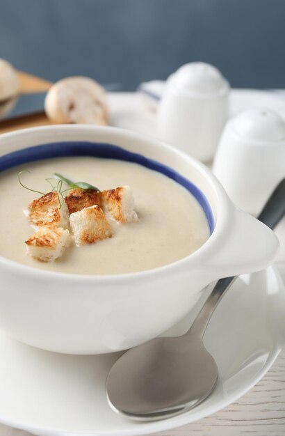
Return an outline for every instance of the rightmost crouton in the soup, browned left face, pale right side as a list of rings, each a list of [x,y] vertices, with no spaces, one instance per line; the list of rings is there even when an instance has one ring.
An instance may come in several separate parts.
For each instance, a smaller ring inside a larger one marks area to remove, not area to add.
[[[107,212],[115,221],[138,221],[134,209],[134,198],[129,186],[120,186],[101,192],[101,202],[104,212]]]

